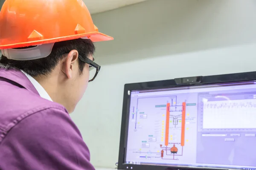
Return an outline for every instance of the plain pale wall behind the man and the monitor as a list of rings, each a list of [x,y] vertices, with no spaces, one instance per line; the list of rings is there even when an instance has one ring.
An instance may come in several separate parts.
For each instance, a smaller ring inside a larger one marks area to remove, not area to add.
[[[93,15],[115,38],[72,114],[96,167],[118,159],[125,83],[256,70],[255,0],[149,0]]]

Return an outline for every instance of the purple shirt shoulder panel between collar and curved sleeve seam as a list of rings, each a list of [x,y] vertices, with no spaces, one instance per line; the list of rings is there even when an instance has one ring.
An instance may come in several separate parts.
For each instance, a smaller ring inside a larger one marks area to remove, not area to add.
[[[9,131],[33,114],[56,112],[69,117],[64,106],[41,98],[25,88],[12,88],[9,93],[0,94],[0,143]],[[33,116],[36,119],[36,116]]]

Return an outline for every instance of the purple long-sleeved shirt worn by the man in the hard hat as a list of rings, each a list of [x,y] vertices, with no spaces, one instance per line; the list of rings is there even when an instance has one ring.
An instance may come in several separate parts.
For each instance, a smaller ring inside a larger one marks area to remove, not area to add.
[[[67,110],[21,71],[0,69],[0,170],[94,170]]]

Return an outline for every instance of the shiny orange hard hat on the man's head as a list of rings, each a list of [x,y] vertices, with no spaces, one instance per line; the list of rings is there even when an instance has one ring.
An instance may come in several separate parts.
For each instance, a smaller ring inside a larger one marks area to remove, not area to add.
[[[113,40],[98,31],[82,0],[6,0],[0,11],[0,49],[88,38]]]

